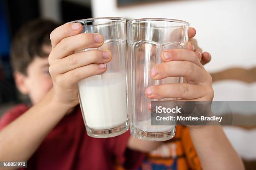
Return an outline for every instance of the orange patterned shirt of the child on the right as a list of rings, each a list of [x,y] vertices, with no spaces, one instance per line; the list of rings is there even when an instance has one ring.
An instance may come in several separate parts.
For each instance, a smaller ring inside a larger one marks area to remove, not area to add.
[[[118,167],[118,170],[122,168]],[[201,170],[186,126],[177,125],[174,138],[148,153],[138,170]]]

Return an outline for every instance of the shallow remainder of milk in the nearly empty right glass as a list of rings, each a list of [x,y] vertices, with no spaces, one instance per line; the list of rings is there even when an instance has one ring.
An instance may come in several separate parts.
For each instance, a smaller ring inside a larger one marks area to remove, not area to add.
[[[174,130],[175,125],[151,125],[151,120],[138,121],[138,124],[134,125],[136,128],[149,132],[149,133],[159,133],[168,132]]]

